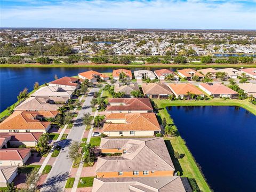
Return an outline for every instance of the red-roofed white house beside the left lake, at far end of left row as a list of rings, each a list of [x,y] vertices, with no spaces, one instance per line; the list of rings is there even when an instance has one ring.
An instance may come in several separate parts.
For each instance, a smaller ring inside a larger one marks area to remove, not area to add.
[[[49,83],[49,86],[72,87],[74,90],[80,86],[80,79],[74,77],[61,77]]]

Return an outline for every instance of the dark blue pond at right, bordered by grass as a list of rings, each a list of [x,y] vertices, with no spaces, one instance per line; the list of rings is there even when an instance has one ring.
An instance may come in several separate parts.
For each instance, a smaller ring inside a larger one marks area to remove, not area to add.
[[[214,191],[256,191],[256,116],[239,107],[167,107]]]

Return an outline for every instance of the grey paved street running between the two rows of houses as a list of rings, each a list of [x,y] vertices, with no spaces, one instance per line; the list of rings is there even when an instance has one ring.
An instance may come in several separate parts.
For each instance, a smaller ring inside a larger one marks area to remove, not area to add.
[[[69,176],[69,171],[73,162],[67,158],[68,149],[70,143],[73,141],[81,141],[83,137],[83,132],[85,130],[85,125],[83,125],[82,117],[84,113],[92,112],[91,100],[93,99],[93,93],[99,91],[99,88],[93,88],[85,99],[82,110],[77,116],[77,120],[74,123],[66,140],[59,143],[62,146],[57,161],[55,161],[51,172],[49,173],[46,182],[43,184],[41,191],[59,191],[63,190],[65,187],[66,180]]]

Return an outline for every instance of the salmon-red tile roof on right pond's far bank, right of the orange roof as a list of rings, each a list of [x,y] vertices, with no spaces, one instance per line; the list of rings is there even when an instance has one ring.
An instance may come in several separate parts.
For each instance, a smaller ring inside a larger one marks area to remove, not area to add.
[[[219,83],[213,85],[201,83],[200,85],[206,90],[210,91],[212,94],[237,94],[236,91],[231,90],[229,87]]]

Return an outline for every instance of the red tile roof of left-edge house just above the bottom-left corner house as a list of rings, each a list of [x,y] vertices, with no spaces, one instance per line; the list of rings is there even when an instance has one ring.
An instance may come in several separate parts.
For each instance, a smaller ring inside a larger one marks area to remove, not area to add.
[[[0,160],[1,161],[19,161],[23,160],[30,153],[29,148],[10,148],[0,149]]]

